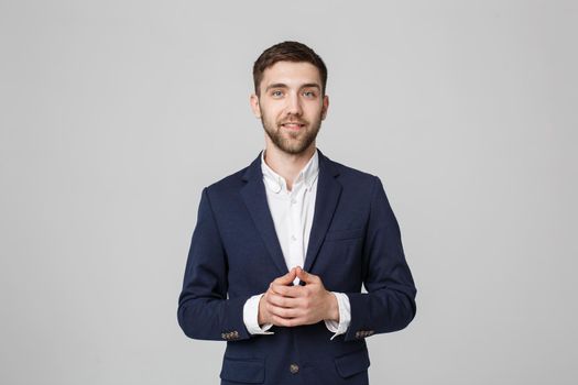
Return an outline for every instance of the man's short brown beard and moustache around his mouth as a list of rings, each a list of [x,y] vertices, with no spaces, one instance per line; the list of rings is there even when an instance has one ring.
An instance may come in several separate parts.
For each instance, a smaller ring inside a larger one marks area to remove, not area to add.
[[[287,130],[281,125],[282,122],[271,122],[263,119],[261,116],[261,123],[265,130],[266,135],[271,139],[273,144],[283,151],[284,153],[291,155],[298,155],[305,152],[315,139],[317,133],[321,129],[321,116],[315,119],[313,122],[308,123],[304,119],[298,118],[287,118],[283,122],[292,121],[305,124],[297,131]]]

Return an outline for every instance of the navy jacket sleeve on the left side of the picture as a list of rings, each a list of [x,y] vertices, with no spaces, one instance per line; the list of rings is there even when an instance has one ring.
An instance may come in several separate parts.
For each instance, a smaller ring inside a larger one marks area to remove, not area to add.
[[[187,337],[226,341],[251,337],[243,323],[249,297],[227,297],[227,254],[204,188],[178,297],[178,324]]]

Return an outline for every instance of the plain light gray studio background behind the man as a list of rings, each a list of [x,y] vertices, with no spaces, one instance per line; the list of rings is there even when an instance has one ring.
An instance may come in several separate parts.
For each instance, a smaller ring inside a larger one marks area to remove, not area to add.
[[[204,186],[263,147],[251,67],[329,68],[418,311],[373,384],[575,384],[575,1],[0,1],[0,383],[216,384],[176,301]]]

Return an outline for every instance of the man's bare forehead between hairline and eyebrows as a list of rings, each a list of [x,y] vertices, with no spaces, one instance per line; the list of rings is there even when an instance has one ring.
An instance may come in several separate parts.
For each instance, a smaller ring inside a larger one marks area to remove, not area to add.
[[[316,66],[308,62],[277,62],[263,72],[261,87],[282,82],[288,87],[299,87],[303,84],[318,84],[321,86],[321,76]]]

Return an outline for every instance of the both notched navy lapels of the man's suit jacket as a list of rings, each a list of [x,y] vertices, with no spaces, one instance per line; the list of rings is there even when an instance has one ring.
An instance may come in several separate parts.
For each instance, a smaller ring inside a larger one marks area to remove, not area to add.
[[[317,257],[341,195],[341,185],[335,178],[339,172],[319,148],[317,151],[319,153],[319,176],[317,179],[315,213],[303,266],[307,272],[310,271]],[[263,174],[261,172],[261,153],[244,172],[243,180],[247,182],[241,188],[243,201],[273,263],[277,266],[281,275],[285,275],[288,271],[266,200],[265,185],[263,184]]]

